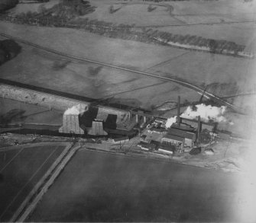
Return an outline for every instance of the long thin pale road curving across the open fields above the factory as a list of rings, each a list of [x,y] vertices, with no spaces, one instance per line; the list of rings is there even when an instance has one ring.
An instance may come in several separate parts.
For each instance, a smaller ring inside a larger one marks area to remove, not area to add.
[[[86,59],[86,58],[79,57],[79,56],[72,56],[70,54],[62,53],[62,52],[57,51],[55,49],[50,49],[50,48],[47,48],[47,47],[44,47],[44,46],[41,46],[41,45],[38,45],[38,44],[35,44],[35,43],[31,43],[27,40],[22,40],[21,38],[18,38],[18,37],[12,37],[12,36],[7,35],[5,33],[0,33],[0,36],[6,37],[6,38],[9,38],[9,39],[12,39],[12,40],[16,40],[18,42],[27,44],[29,46],[33,46],[34,48],[37,48],[37,49],[43,49],[44,51],[54,53],[54,54],[57,54],[59,56],[65,56],[65,57],[70,58],[70,59],[76,59],[76,60],[81,61],[81,62],[91,62],[91,63],[97,64],[97,65],[103,65],[103,66],[106,66],[106,67],[109,67],[109,68],[115,68],[115,69],[122,70],[122,71],[125,71],[125,72],[131,72],[131,73],[138,74],[138,75],[144,75],[144,76],[147,76],[147,77],[150,77],[150,78],[157,78],[157,79],[160,79],[162,81],[170,81],[170,82],[173,82],[173,83],[177,83],[177,84],[182,85],[183,87],[190,88],[194,91],[197,91],[197,92],[199,92],[199,94],[201,93],[205,97],[209,97],[212,100],[218,101],[220,104],[223,104],[227,107],[232,108],[233,110],[235,110],[235,112],[244,113],[243,110],[241,110],[241,108],[236,107],[235,105],[228,103],[228,101],[223,100],[221,97],[218,97],[215,94],[209,93],[208,91],[205,91],[204,89],[199,88],[198,86],[196,86],[194,84],[190,84],[187,81],[181,81],[181,80],[178,80],[176,78],[162,77],[160,75],[155,75],[155,74],[152,74],[152,73],[149,73],[149,72],[142,72],[142,71],[138,71],[138,70],[134,70],[134,69],[130,69],[130,68],[121,67],[121,66],[118,66],[118,65],[108,64],[108,63],[105,63],[105,62],[99,62],[99,61],[92,60],[92,59]]]

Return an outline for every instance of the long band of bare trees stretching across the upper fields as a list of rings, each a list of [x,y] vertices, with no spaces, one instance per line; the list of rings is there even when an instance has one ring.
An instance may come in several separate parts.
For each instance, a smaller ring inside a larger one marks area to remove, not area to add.
[[[11,21],[34,24],[41,26],[54,26],[54,27],[70,27],[76,29],[87,30],[92,33],[98,33],[105,37],[120,38],[125,40],[136,40],[146,43],[157,43],[160,40],[163,43],[180,43],[181,45],[199,46],[209,49],[212,53],[232,53],[237,54],[243,52],[245,46],[238,45],[237,43],[227,40],[213,40],[195,35],[180,35],[162,32],[152,29],[134,29],[135,24],[113,24],[105,21],[76,19],[71,20],[66,16],[61,17],[50,14],[40,14],[28,12],[27,14],[20,14]],[[193,47],[191,47],[193,49]]]

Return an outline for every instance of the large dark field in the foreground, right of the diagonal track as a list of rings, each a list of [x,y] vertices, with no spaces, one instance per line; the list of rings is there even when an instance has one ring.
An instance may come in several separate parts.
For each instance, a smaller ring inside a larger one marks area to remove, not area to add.
[[[80,150],[28,221],[235,221],[243,217],[238,180],[222,171]]]

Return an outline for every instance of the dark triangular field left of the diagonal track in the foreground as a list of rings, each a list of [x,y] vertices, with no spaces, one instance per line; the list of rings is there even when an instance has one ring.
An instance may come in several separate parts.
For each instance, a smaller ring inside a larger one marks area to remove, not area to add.
[[[0,221],[8,221],[66,144],[21,145],[0,150]]]

